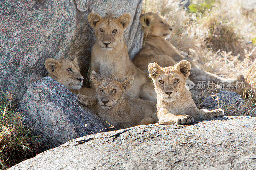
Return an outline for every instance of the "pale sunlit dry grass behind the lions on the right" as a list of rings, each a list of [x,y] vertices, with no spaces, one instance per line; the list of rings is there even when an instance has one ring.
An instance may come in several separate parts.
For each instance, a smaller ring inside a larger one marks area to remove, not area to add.
[[[172,44],[185,52],[195,49],[207,71],[224,78],[243,74],[255,89],[256,11],[244,9],[242,0],[213,1],[192,0],[198,10],[188,12],[179,7],[178,0],[146,0],[143,11],[163,15],[174,28]],[[207,3],[212,4],[205,6]],[[198,105],[206,93],[199,95]],[[224,110],[228,115],[254,115],[254,107],[248,100],[240,111],[235,111],[232,105]]]

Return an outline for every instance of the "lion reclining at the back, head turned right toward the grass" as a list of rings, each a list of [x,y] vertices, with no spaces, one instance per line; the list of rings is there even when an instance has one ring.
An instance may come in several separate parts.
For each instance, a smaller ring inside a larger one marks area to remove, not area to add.
[[[206,87],[209,85],[208,82],[214,84],[220,84],[222,82],[227,90],[236,92],[242,96],[248,96],[248,93],[253,93],[252,86],[249,85],[242,75],[238,76],[237,80],[229,80],[221,78],[215,74],[205,71],[203,65],[201,65],[197,59],[196,52],[189,49],[189,54],[180,52],[174,48],[169,40],[166,38],[170,37],[171,26],[165,21],[165,19],[154,13],[147,13],[146,15],[140,16],[140,22],[144,29],[144,46],[140,52],[132,60],[135,66],[139,69],[147,72],[148,64],[156,62],[161,67],[174,66],[175,62],[181,60],[188,60],[191,63],[191,75],[190,80],[195,84],[198,82],[205,82]],[[234,88],[236,83],[243,82],[242,88]],[[232,86],[233,85],[233,86]],[[229,88],[231,86],[231,88]],[[225,87],[223,89],[225,89]]]

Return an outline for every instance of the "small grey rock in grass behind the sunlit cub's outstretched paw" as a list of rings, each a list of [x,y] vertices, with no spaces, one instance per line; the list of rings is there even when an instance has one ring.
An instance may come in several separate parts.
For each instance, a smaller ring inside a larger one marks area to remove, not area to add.
[[[209,97],[206,97],[201,104],[201,108],[206,108],[209,110],[214,110],[217,108],[223,108],[225,105],[234,105],[236,108],[240,107],[241,104],[244,103],[244,100],[242,99],[241,95],[236,94],[235,92],[230,92],[227,90],[220,91],[218,93],[219,96],[219,105],[217,103],[217,97],[216,95],[212,95]],[[236,109],[234,107],[234,109]]]

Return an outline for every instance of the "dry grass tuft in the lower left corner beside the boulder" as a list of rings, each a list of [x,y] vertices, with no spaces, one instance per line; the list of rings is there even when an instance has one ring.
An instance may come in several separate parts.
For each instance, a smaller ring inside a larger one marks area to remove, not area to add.
[[[0,93],[0,169],[7,169],[36,154],[36,142],[24,117],[11,105],[12,94]]]

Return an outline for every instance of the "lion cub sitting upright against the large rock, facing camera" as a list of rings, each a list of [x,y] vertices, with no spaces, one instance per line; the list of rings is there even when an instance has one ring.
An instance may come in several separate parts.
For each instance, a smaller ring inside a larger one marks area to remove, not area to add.
[[[92,47],[90,69],[99,72],[103,77],[114,74],[117,78],[124,79],[133,75],[133,85],[126,94],[132,98],[156,101],[151,80],[132,63],[128,55],[123,33],[130,20],[129,14],[123,14],[118,18],[112,15],[102,18],[95,13],[88,15],[88,21],[95,29],[97,38]]]

